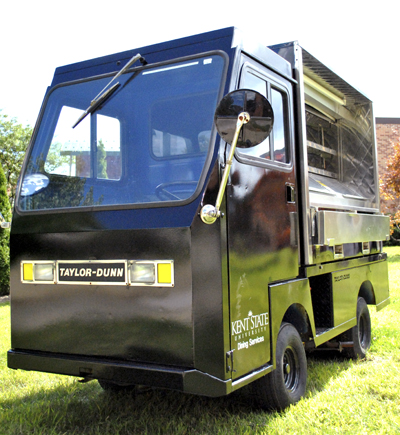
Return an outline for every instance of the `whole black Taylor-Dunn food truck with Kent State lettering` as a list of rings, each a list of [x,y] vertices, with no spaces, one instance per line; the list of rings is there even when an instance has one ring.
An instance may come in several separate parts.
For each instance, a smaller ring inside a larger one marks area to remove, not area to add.
[[[389,303],[371,101],[235,28],[57,68],[11,228],[8,366],[283,409]]]

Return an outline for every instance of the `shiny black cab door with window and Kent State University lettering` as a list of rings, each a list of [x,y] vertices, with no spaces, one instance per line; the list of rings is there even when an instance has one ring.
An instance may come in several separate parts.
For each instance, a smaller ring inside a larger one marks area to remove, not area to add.
[[[264,142],[236,149],[227,186],[233,378],[270,362],[268,285],[298,273],[292,84],[247,60],[239,87],[267,97],[274,126]]]

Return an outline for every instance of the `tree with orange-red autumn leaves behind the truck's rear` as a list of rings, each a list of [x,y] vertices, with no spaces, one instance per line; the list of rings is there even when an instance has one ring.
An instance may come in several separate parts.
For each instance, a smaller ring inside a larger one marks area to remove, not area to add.
[[[400,225],[400,143],[393,146],[393,154],[386,164],[386,172],[380,180],[381,206],[390,214],[391,233]]]

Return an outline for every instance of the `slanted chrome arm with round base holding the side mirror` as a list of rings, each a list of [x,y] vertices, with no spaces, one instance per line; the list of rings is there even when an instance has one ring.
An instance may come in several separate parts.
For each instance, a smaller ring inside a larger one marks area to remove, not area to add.
[[[200,211],[200,218],[205,224],[211,225],[221,216],[220,207],[221,207],[222,199],[224,197],[226,185],[228,184],[229,172],[231,170],[233,156],[235,154],[235,149],[239,138],[239,133],[243,125],[247,124],[249,121],[250,121],[250,115],[247,112],[239,113],[236,122],[236,130],[231,145],[231,150],[229,152],[229,157],[226,162],[224,172],[222,174],[221,184],[219,186],[219,191],[217,195],[217,200],[215,201],[215,206],[211,204],[207,204],[203,206]]]

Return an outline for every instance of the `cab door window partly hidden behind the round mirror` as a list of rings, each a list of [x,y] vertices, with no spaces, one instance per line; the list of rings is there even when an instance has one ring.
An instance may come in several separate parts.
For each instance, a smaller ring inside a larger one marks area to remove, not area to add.
[[[274,127],[271,135],[253,148],[241,149],[240,154],[250,158],[290,163],[289,153],[289,101],[286,89],[256,71],[245,69],[241,88],[254,89],[268,98],[274,110]]]

